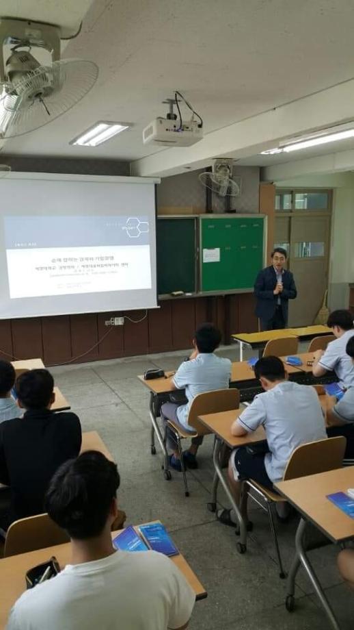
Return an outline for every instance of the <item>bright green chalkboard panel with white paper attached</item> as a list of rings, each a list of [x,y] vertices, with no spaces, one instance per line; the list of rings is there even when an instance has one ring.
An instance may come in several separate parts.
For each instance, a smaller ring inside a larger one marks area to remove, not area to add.
[[[254,286],[263,266],[264,217],[200,217],[202,291]]]

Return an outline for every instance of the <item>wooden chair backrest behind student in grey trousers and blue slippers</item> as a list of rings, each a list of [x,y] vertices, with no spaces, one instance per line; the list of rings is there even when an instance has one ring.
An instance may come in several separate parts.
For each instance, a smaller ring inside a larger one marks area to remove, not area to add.
[[[198,431],[198,435],[205,436],[210,431],[198,420],[198,416],[217,414],[239,409],[240,392],[236,388],[228,390],[213,390],[195,396],[188,414],[188,424]]]

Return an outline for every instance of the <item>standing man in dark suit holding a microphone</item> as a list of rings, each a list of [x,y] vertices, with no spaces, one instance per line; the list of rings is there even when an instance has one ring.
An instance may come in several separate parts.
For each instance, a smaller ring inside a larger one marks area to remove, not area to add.
[[[276,330],[288,324],[288,300],[297,297],[297,288],[292,273],[284,269],[286,257],[285,249],[275,247],[271,266],[262,269],[256,278],[256,315],[261,330]]]

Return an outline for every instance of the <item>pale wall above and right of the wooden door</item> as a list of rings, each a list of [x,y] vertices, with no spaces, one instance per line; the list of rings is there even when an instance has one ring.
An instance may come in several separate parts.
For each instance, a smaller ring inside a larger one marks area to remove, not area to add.
[[[354,173],[308,175],[276,181],[289,188],[333,188],[329,308],[347,308],[349,282],[354,282]]]

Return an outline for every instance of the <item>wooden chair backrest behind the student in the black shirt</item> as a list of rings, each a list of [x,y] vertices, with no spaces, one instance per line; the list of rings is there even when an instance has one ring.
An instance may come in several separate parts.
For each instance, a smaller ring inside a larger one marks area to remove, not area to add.
[[[5,538],[4,557],[44,549],[55,544],[69,542],[64,529],[49,518],[48,514],[38,514],[15,520],[10,525]]]

